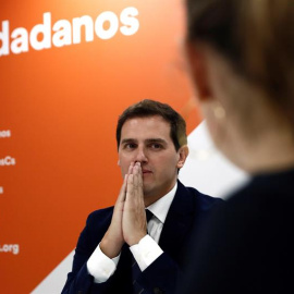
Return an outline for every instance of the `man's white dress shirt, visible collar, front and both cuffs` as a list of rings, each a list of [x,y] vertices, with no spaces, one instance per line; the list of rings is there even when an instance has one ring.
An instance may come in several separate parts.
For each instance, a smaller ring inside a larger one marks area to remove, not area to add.
[[[130,247],[142,271],[163,253],[158,242],[176,188],[177,183],[175,183],[174,187],[167,195],[146,208],[154,213],[147,224],[148,234],[138,244]],[[120,255],[110,259],[101,252],[98,245],[87,261],[87,269],[89,274],[94,277],[94,282],[106,282],[114,273],[119,260]]]

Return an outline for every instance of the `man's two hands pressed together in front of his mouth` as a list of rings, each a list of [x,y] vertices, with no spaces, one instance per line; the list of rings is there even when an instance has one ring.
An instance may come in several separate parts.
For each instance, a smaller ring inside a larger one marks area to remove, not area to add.
[[[109,258],[118,256],[124,243],[137,244],[147,234],[143,193],[143,174],[139,162],[132,162],[124,176],[112,220],[100,249]]]

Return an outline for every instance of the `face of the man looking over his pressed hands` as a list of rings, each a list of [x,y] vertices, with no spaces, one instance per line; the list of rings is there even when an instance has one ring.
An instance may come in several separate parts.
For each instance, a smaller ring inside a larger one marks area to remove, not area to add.
[[[123,124],[119,166],[124,176],[131,162],[140,162],[146,206],[172,189],[185,161],[182,157],[170,137],[170,124],[161,117],[134,118]]]

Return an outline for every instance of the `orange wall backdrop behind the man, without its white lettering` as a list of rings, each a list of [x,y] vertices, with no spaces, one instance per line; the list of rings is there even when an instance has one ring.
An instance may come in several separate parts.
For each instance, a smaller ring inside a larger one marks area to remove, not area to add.
[[[53,25],[127,7],[138,10],[132,36],[87,42],[83,32],[81,44],[0,57],[0,132],[11,134],[0,136],[0,160],[15,159],[0,164],[1,293],[29,293],[74,248],[87,215],[114,203],[115,124],[127,106],[151,98],[181,112],[188,132],[199,123],[180,52],[181,0],[1,1],[0,32],[9,21],[10,34],[29,33],[45,12]]]

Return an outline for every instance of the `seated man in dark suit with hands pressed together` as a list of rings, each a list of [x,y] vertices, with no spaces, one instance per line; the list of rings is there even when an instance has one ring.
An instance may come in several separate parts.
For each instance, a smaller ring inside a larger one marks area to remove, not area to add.
[[[168,105],[127,108],[117,142],[118,200],[88,217],[62,293],[173,293],[192,232],[220,200],[177,181],[188,155],[185,121]]]

